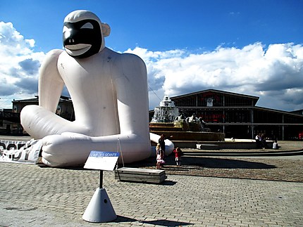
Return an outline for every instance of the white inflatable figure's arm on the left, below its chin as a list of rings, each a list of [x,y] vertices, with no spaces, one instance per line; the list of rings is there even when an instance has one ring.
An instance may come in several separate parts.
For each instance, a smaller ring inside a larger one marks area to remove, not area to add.
[[[64,82],[58,72],[58,57],[63,50],[52,50],[47,53],[39,74],[39,105],[55,112]]]

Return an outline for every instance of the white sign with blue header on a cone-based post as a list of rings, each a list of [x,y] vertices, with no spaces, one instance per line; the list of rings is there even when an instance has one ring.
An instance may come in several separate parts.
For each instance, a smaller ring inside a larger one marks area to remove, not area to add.
[[[117,218],[116,212],[113,210],[111,200],[103,188],[103,171],[111,170],[116,166],[119,153],[104,152],[92,150],[85,163],[85,169],[99,169],[100,182],[99,188],[96,189],[92,199],[82,216],[82,219],[89,222],[109,222]]]

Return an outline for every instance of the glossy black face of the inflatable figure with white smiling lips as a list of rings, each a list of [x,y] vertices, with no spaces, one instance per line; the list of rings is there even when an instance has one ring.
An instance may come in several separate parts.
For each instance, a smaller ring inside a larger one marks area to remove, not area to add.
[[[97,20],[64,22],[63,46],[73,58],[88,58],[99,53],[102,35]],[[89,46],[91,45],[91,46]]]

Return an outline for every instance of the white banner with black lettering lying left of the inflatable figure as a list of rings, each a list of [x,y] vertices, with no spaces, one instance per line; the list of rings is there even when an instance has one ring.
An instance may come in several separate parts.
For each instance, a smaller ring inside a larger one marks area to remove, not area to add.
[[[36,164],[41,150],[41,141],[0,140],[0,162]]]

